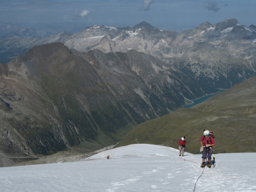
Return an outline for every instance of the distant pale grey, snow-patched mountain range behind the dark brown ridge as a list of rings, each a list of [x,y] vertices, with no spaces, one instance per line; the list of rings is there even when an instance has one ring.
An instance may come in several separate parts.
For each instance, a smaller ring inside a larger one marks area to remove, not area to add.
[[[182,33],[141,22],[132,28],[89,26],[74,34],[63,32],[46,38],[16,36],[0,39],[0,57],[5,61],[4,55],[13,58],[51,42],[62,42],[79,52],[137,50],[150,54],[195,78],[204,89],[209,87],[209,92],[211,88],[230,88],[256,74],[256,28],[241,25],[236,19],[204,22]]]

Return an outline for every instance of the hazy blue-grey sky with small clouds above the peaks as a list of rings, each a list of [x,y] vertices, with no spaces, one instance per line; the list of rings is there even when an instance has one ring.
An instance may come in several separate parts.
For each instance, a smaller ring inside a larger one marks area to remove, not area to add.
[[[255,0],[0,0],[0,22],[133,27],[146,21],[174,31],[231,18],[256,25],[255,9]]]

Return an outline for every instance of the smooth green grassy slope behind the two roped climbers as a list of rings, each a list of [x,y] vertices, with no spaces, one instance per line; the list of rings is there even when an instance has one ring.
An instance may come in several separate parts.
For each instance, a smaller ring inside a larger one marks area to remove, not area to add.
[[[255,117],[256,76],[192,108],[139,124],[118,146],[147,143],[178,148],[178,138],[186,136],[186,151],[198,154],[206,129],[216,136],[215,152],[256,152]]]

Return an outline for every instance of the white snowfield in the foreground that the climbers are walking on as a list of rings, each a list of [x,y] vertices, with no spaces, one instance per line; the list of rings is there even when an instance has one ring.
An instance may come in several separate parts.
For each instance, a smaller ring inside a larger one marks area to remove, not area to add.
[[[0,186],[1,192],[256,191],[256,153],[216,154],[212,168],[200,167],[201,156],[133,144],[79,162],[3,167]]]

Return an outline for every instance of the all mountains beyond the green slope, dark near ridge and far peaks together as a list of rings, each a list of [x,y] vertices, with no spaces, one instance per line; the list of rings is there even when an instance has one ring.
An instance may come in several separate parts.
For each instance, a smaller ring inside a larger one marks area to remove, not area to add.
[[[180,34],[141,22],[0,39],[1,58],[14,58],[0,64],[0,165],[116,144],[142,122],[243,82],[256,75],[255,34],[231,19]]]

